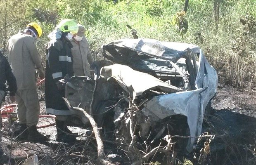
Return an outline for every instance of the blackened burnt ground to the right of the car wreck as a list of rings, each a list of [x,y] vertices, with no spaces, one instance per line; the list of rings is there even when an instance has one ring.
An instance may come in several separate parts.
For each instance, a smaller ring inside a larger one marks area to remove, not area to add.
[[[216,134],[209,164],[256,165],[256,89],[221,87],[212,108],[202,130]]]

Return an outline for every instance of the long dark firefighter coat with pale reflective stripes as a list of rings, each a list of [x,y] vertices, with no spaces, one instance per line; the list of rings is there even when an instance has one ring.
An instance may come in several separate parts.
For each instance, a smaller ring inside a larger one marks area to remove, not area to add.
[[[65,90],[58,90],[56,82],[67,74],[73,76],[71,43],[64,38],[50,40],[46,50],[45,106],[46,113],[71,115],[64,99]]]

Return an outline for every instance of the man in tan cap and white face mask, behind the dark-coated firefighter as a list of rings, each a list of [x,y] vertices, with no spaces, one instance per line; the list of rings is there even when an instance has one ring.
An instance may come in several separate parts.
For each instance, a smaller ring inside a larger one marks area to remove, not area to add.
[[[89,49],[89,42],[85,38],[85,28],[82,25],[78,24],[78,33],[74,34],[71,43],[74,75],[90,77],[90,65],[94,59]]]

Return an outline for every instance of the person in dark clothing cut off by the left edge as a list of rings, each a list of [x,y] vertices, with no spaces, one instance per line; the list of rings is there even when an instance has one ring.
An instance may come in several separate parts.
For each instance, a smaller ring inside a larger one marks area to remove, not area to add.
[[[7,59],[3,56],[2,51],[0,50],[0,108],[2,105],[2,101],[5,99],[5,82],[7,81],[7,85],[9,86],[9,98],[12,102],[15,101],[15,93],[17,91],[16,79],[12,73],[12,68],[9,65]],[[0,113],[0,129],[2,127],[2,118]],[[0,137],[1,141],[1,137]]]

